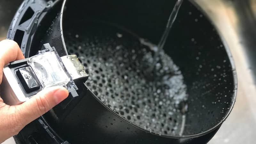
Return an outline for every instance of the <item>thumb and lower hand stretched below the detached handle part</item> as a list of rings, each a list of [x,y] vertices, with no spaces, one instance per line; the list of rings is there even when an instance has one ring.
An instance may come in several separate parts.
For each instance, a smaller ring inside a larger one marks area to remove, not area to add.
[[[45,89],[28,101],[0,108],[0,143],[18,134],[27,124],[46,113],[52,107],[68,97],[64,87]]]

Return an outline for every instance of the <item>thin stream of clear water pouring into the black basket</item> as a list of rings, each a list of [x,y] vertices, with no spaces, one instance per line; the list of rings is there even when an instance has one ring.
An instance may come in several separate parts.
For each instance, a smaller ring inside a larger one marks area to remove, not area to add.
[[[148,46],[152,51],[155,52],[154,57],[151,60],[152,61],[151,65],[149,66],[148,69],[146,69],[146,73],[149,74],[149,76],[152,73],[152,71],[154,70],[154,68],[156,67],[158,60],[160,59],[160,56],[161,56],[160,53],[163,51],[164,44],[165,44],[166,39],[167,39],[167,37],[170,33],[170,30],[172,28],[172,24],[174,23],[174,21],[177,17],[177,14],[179,12],[182,1],[183,0],[177,0],[176,4],[174,5],[174,8],[172,9],[172,13],[169,16],[166,28],[164,30],[164,33],[163,33],[158,45],[152,44],[152,43],[146,41],[145,39],[140,38],[141,44]]]

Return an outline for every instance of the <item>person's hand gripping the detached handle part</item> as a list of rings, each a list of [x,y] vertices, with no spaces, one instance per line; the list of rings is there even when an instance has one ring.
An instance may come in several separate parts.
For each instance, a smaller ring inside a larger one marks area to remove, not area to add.
[[[12,40],[1,41],[0,50],[1,84],[4,65],[11,61],[24,59],[24,56],[20,51],[19,45]],[[64,87],[51,87],[38,92],[28,101],[16,106],[6,105],[0,98],[0,143],[18,134],[24,126],[67,97],[68,91]]]

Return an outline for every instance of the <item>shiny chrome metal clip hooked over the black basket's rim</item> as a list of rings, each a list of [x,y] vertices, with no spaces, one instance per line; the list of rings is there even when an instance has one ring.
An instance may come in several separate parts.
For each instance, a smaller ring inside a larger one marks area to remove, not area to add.
[[[60,57],[73,80],[88,77],[84,66],[75,54]]]

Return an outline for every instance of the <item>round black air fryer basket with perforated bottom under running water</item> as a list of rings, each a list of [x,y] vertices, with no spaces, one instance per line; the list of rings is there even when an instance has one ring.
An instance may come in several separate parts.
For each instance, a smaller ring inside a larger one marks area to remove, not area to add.
[[[48,42],[65,54],[65,42],[89,73],[86,87],[80,82],[88,89],[79,98],[43,116],[52,131],[72,144],[212,138],[234,105],[236,73],[227,45],[206,15],[184,1],[159,64],[151,74],[145,71],[155,53],[139,38],[157,44],[174,3],[68,0],[63,12],[44,18],[52,24],[42,20],[25,55]]]

